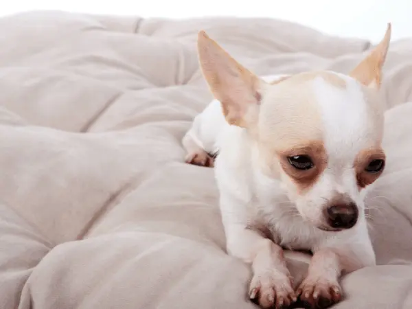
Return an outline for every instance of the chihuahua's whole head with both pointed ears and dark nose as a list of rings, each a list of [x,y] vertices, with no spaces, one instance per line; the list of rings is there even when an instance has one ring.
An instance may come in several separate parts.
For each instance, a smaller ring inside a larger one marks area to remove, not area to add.
[[[385,167],[378,95],[391,36],[349,75],[299,73],[268,84],[231,58],[205,32],[201,69],[227,122],[247,130],[260,172],[282,181],[299,214],[319,229],[339,231],[363,213],[363,189]]]

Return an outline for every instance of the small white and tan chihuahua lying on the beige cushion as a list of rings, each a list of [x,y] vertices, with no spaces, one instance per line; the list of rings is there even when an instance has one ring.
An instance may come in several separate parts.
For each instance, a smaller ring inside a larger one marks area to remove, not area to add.
[[[186,161],[214,166],[227,252],[251,264],[249,297],[262,308],[297,297],[312,308],[331,306],[343,297],[341,275],[376,265],[364,198],[385,168],[379,89],[390,38],[388,23],[347,75],[260,78],[198,33],[216,100],[183,137]],[[284,249],[312,253],[296,290]]]

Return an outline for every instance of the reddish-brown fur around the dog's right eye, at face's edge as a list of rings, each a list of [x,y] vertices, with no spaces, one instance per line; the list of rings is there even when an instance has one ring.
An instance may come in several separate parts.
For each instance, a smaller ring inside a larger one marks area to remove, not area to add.
[[[385,152],[383,152],[382,148],[369,148],[359,152],[358,156],[354,161],[354,169],[356,172],[356,181],[358,182],[358,189],[362,190],[367,185],[374,183],[376,179],[379,178],[380,172],[371,173],[367,172],[365,168],[367,165],[376,159],[381,159],[385,161]]]

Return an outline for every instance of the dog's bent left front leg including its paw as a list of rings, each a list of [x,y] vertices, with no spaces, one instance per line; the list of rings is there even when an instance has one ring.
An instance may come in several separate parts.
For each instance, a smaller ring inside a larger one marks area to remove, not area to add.
[[[225,231],[228,253],[252,265],[251,299],[262,308],[283,308],[296,301],[281,247],[244,225],[227,225]]]

